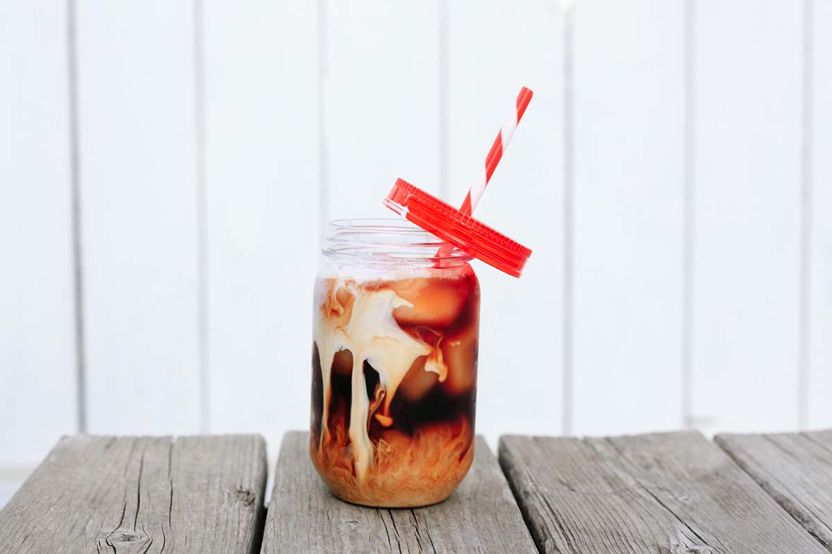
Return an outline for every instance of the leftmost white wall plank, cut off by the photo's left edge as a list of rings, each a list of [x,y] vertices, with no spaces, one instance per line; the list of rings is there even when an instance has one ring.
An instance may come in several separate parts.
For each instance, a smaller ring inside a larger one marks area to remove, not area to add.
[[[0,44],[0,466],[34,467],[77,430],[66,4],[2,2]]]

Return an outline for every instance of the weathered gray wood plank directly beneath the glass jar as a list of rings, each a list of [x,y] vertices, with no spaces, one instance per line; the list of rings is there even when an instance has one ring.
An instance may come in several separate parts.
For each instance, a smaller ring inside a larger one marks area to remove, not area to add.
[[[497,460],[478,437],[473,466],[443,503],[376,509],[344,503],[315,473],[308,433],[283,439],[262,552],[537,552]]]

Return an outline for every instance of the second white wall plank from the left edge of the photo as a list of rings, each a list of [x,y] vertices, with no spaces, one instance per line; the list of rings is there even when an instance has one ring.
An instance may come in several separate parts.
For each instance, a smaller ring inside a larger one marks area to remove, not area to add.
[[[79,0],[89,430],[199,430],[193,2]]]

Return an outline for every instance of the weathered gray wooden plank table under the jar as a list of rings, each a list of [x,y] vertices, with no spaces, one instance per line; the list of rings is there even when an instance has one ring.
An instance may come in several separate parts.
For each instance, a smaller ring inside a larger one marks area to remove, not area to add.
[[[0,511],[0,552],[832,551],[832,431],[478,439],[448,501],[329,496],[285,436],[268,510],[256,436],[62,439]]]

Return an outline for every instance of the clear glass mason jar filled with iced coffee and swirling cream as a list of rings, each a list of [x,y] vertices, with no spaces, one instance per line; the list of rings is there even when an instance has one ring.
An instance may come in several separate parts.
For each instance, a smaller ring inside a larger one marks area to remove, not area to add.
[[[479,284],[471,256],[401,219],[330,223],[322,252],[314,467],[350,503],[441,502],[473,461]]]

